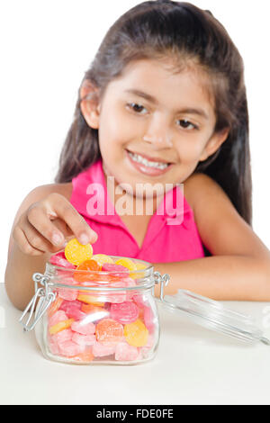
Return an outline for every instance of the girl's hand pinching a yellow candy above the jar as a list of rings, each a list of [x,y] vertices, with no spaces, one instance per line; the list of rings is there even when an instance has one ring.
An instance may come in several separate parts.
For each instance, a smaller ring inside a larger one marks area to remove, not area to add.
[[[68,238],[81,244],[93,244],[97,234],[76,209],[59,193],[49,193],[23,212],[12,232],[14,241],[23,253],[40,256],[56,253]]]

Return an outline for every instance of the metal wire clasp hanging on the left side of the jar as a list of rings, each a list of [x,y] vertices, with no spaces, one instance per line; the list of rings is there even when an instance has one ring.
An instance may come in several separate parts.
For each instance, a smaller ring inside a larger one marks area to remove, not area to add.
[[[31,302],[27,304],[25,310],[23,311],[21,319],[19,320],[20,323],[23,325],[24,332],[28,332],[36,326],[43,314],[49,308],[50,304],[54,302],[56,298],[55,293],[52,293],[49,290],[49,278],[47,276],[42,274],[34,274],[32,275],[32,279],[35,283],[35,294],[32,297]],[[40,288],[39,284],[41,285]],[[36,309],[35,316],[32,322],[30,323],[38,300],[40,300],[39,307]],[[30,311],[29,317],[26,322],[23,323],[23,318],[28,311]]]

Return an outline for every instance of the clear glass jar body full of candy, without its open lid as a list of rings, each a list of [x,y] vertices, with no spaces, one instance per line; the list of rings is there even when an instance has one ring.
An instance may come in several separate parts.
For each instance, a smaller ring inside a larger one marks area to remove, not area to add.
[[[115,262],[122,257],[111,258]],[[24,329],[35,327],[46,358],[83,365],[134,365],[156,355],[154,285],[162,277],[148,262],[132,261],[140,270],[82,271],[47,263],[44,275],[33,275],[35,296],[22,319],[31,311]]]

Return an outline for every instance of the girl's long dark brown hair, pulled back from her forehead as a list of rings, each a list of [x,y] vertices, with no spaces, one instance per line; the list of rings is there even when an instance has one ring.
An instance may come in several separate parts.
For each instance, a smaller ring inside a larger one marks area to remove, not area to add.
[[[210,175],[220,184],[251,226],[252,180],[243,60],[211,12],[170,0],[136,5],[106,33],[83,82],[89,80],[102,96],[131,60],[169,54],[180,63],[183,58],[196,59],[211,76],[215,130],[229,128],[229,136],[215,154],[198,164],[195,172]],[[58,183],[70,182],[101,157],[98,130],[87,125],[80,103],[78,94],[74,121],[60,155],[55,179]]]

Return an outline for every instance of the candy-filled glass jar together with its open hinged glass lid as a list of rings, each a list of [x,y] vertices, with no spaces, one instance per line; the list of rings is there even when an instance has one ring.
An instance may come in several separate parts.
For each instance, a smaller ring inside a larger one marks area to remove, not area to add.
[[[124,258],[110,257],[113,262]],[[20,321],[24,331],[35,329],[46,358],[76,365],[148,362],[159,342],[157,302],[204,328],[247,344],[260,341],[270,346],[252,317],[186,290],[164,296],[169,275],[154,272],[146,261],[129,260],[139,270],[82,271],[47,263],[44,275],[32,276],[35,294]],[[160,297],[155,298],[159,283]]]

